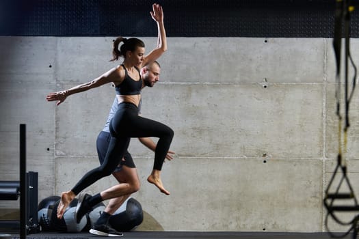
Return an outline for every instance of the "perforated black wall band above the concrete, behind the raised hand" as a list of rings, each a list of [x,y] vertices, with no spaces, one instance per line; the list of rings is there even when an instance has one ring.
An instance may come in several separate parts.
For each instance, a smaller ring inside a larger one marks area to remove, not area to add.
[[[149,0],[0,0],[2,36],[157,36]],[[332,38],[334,0],[165,0],[169,37]],[[359,7],[351,14],[358,38]]]

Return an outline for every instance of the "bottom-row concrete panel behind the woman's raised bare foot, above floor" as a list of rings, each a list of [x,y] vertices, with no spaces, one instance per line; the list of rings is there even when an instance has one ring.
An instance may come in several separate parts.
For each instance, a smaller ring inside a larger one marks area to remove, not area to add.
[[[321,230],[321,160],[180,157],[164,165],[168,197],[146,182],[152,160],[139,160],[135,197],[165,230]]]

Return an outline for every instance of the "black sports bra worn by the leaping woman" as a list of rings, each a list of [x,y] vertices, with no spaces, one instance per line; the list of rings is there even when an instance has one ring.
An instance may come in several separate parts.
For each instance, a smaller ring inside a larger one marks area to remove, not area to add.
[[[139,74],[138,68],[135,67],[139,74],[139,81],[135,81],[131,78],[131,76],[129,76],[124,65],[122,64],[121,66],[124,68],[124,80],[120,83],[120,85],[115,87],[116,94],[123,96],[133,96],[141,94],[142,79],[141,74]]]

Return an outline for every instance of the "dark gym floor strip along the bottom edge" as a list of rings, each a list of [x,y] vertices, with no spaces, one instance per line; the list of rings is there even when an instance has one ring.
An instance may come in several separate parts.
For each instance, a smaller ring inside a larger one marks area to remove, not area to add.
[[[10,234],[11,236],[0,238],[19,238],[19,234]],[[82,239],[82,238],[100,238],[92,234],[81,232],[77,234],[66,234],[66,233],[44,233],[27,235],[28,239]],[[288,232],[238,232],[238,231],[217,231],[217,232],[200,232],[200,231],[130,231],[125,232],[123,238],[132,239],[190,239],[190,238],[213,238],[213,239],[326,239],[331,238],[328,233],[288,233]],[[345,238],[353,238],[353,234],[345,236]]]

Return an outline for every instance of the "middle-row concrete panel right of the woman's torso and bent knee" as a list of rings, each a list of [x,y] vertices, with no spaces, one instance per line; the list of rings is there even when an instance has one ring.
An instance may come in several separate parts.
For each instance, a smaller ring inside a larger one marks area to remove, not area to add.
[[[144,89],[142,115],[174,129],[181,156],[317,158],[322,102],[321,84],[159,83]]]

